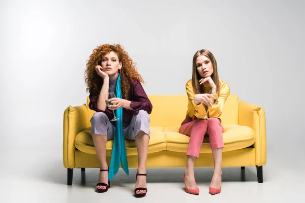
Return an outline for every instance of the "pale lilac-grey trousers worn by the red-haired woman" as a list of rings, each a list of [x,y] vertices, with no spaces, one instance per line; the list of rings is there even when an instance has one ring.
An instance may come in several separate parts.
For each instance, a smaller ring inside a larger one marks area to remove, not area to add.
[[[96,112],[92,116],[90,122],[91,135],[102,134],[103,136],[107,136],[107,140],[114,139],[115,126],[109,121],[105,113]],[[144,110],[140,110],[137,115],[133,115],[130,124],[123,127],[124,139],[135,140],[137,134],[141,130],[150,136],[149,122],[150,118],[148,113]]]

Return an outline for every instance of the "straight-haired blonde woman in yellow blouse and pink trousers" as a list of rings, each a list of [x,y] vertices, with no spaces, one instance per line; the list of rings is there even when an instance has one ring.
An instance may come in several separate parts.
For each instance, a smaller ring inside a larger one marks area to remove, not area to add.
[[[221,192],[224,147],[224,129],[219,117],[230,94],[230,87],[219,79],[216,59],[209,50],[202,49],[195,53],[193,76],[186,84],[186,91],[189,98],[188,111],[179,128],[180,133],[190,136],[187,167],[183,175],[186,190],[191,194],[199,194],[194,177],[194,163],[199,157],[204,136],[208,136],[214,159],[214,175],[209,193],[218,194]]]

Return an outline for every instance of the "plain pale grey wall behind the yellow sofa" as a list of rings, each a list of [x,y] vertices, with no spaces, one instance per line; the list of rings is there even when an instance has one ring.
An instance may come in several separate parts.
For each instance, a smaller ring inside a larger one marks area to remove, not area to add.
[[[61,146],[64,110],[88,95],[86,60],[97,46],[120,43],[137,62],[147,94],[185,94],[194,53],[209,49],[231,93],[265,109],[268,149],[301,147],[304,6],[1,1],[0,145]]]

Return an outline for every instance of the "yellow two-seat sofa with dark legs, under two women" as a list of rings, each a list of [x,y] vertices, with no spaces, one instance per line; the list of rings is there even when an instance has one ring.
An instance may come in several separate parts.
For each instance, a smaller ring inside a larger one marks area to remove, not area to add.
[[[153,112],[150,116],[150,141],[147,167],[185,167],[189,137],[178,133],[187,112],[187,95],[148,95]],[[64,113],[64,166],[68,168],[68,185],[72,185],[73,168],[98,168],[92,137],[90,118],[95,111],[82,106],[69,106]],[[222,166],[256,166],[258,182],[263,182],[262,166],[266,164],[265,112],[260,106],[239,101],[229,95],[221,115],[225,132]],[[110,163],[113,141],[107,142],[107,162]],[[129,167],[138,166],[134,141],[125,141]],[[213,166],[208,138],[195,167]]]

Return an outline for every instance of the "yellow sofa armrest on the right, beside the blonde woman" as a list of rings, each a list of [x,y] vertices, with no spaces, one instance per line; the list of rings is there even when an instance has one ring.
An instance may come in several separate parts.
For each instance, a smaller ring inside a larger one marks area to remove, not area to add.
[[[241,100],[238,107],[238,122],[239,125],[246,125],[253,129],[256,165],[266,165],[267,141],[265,110],[260,106],[247,104]]]

